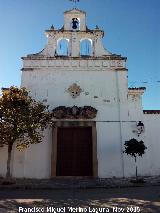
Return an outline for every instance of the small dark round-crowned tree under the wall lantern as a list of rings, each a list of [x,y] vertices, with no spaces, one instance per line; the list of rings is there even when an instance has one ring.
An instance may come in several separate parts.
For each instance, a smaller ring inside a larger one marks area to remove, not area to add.
[[[147,147],[144,145],[143,141],[137,141],[135,138],[132,138],[129,141],[126,141],[124,143],[125,150],[124,153],[127,155],[130,155],[135,159],[136,163],[136,179],[138,177],[137,175],[137,157],[142,157],[143,154],[145,154],[145,150]]]

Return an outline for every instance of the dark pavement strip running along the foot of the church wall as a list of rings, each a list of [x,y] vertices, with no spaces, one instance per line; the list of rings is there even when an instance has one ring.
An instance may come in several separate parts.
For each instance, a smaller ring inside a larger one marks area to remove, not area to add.
[[[133,178],[52,178],[52,179],[0,179],[1,190],[17,189],[84,189],[84,188],[124,188],[135,186],[160,186],[160,176],[140,177],[138,183]],[[142,182],[141,182],[142,180]],[[11,184],[12,183],[12,184]]]

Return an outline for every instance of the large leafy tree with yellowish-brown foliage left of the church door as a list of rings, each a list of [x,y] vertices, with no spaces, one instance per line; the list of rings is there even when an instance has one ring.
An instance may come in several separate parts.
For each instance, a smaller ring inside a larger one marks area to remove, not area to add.
[[[2,89],[0,97],[0,146],[8,146],[7,173],[11,177],[10,163],[13,144],[18,149],[40,143],[43,130],[51,124],[48,106],[32,99],[25,88]]]

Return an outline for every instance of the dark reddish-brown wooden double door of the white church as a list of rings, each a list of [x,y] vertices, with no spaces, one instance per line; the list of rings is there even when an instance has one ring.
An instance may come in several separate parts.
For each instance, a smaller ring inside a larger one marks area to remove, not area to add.
[[[57,176],[92,176],[92,128],[58,128]]]

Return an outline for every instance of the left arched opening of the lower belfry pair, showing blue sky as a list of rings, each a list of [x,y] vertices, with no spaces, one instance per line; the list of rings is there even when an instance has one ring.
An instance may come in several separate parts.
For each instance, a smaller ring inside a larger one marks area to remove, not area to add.
[[[69,40],[60,39],[57,42],[57,54],[59,56],[68,56],[69,55]]]

